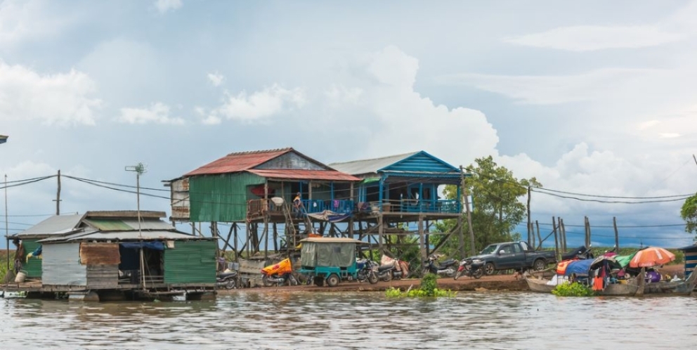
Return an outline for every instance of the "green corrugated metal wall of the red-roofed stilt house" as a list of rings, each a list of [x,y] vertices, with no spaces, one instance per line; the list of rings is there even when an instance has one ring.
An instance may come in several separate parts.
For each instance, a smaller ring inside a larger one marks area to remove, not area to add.
[[[190,221],[247,219],[247,186],[264,183],[249,173],[193,176],[189,179]]]

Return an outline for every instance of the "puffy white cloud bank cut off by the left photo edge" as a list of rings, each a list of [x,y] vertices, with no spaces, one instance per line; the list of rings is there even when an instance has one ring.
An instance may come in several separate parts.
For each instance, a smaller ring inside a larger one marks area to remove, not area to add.
[[[40,75],[0,61],[0,120],[93,125],[102,104],[91,97],[95,90],[92,79],[76,70]]]

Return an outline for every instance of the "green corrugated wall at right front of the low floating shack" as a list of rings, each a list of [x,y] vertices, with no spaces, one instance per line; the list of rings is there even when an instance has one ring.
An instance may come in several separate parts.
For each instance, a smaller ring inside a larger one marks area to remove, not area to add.
[[[215,283],[216,241],[176,241],[164,249],[164,283]]]

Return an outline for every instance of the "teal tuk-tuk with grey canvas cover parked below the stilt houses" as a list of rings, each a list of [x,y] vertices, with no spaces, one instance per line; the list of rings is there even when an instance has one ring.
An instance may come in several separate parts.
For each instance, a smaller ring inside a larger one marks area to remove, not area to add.
[[[356,245],[365,244],[353,238],[305,238],[300,240],[298,271],[313,278],[315,285],[334,287],[341,280],[357,280]]]

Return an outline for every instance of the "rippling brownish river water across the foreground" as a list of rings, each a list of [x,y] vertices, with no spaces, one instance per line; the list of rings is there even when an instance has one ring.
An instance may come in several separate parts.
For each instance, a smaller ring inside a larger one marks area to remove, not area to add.
[[[695,349],[693,297],[259,293],[214,302],[0,299],[0,349]]]

